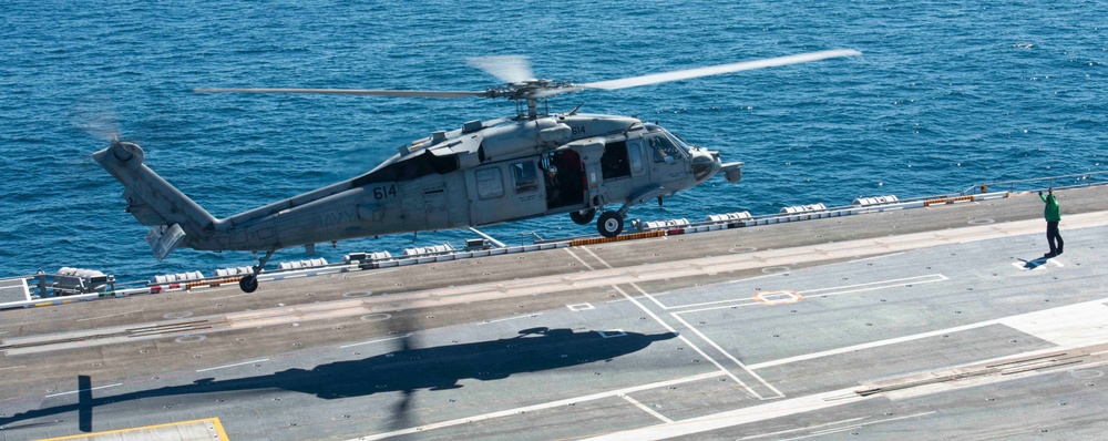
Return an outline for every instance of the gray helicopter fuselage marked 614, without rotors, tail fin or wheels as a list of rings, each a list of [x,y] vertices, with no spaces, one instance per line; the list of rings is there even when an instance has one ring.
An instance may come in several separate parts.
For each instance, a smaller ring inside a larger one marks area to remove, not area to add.
[[[361,176],[217,221],[185,244],[274,249],[629,207],[718,171],[711,152],[633,117],[471,122],[404,145]]]

